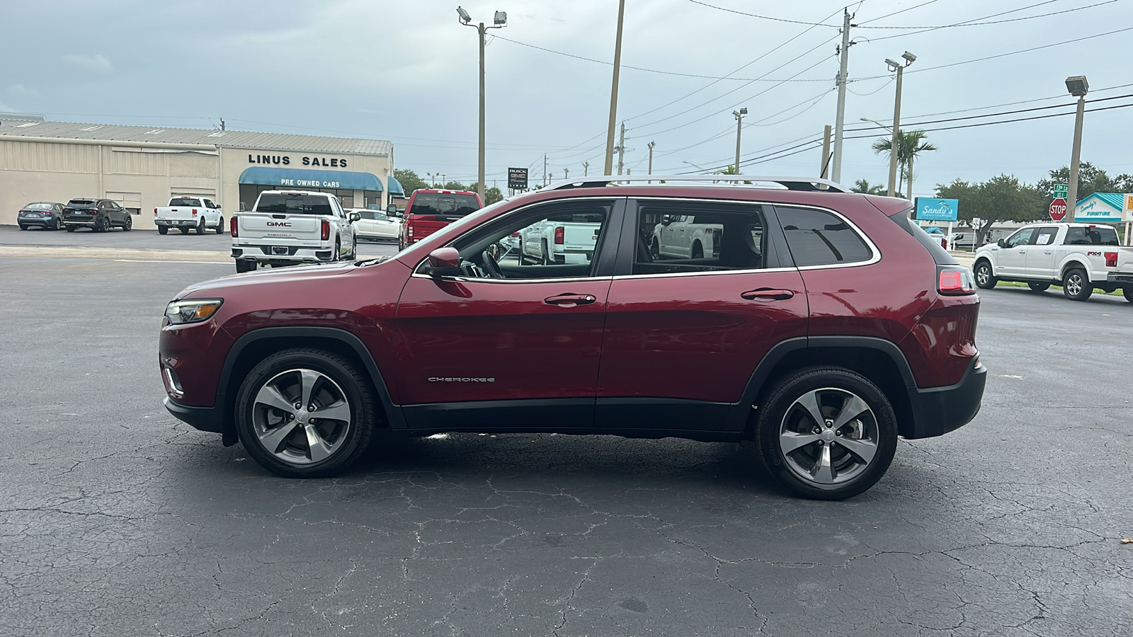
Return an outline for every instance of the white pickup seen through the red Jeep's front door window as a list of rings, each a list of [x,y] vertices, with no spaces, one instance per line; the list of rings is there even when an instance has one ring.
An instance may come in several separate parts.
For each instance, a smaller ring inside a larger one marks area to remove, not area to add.
[[[600,213],[561,214],[523,228],[518,232],[520,262],[589,264],[603,218]]]

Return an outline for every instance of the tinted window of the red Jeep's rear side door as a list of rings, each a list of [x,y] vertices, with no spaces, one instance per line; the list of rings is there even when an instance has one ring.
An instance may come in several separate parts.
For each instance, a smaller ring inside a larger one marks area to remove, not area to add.
[[[639,202],[633,274],[766,267],[758,205]]]

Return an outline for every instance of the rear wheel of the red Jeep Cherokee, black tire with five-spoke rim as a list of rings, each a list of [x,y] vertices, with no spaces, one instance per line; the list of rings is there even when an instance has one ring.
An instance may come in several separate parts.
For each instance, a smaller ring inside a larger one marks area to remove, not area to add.
[[[808,396],[816,397],[823,416],[818,425],[810,410],[796,406]],[[853,399],[867,410],[830,428],[837,424],[841,407]],[[819,433],[813,433],[816,430]],[[897,449],[896,414],[888,398],[869,379],[844,367],[806,367],[790,373],[761,401],[755,433],[760,457],[775,479],[793,494],[811,500],[843,500],[864,492],[885,475]],[[803,439],[813,440],[799,444]],[[851,451],[843,441],[854,441],[853,449],[869,458]],[[784,444],[794,448],[784,451]],[[828,462],[821,462],[824,458]],[[808,461],[812,462],[809,469]],[[823,467],[830,469],[824,472]]]

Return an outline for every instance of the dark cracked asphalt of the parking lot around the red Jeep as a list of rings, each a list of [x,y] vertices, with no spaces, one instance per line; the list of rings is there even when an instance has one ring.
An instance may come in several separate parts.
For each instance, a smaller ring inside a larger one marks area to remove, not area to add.
[[[48,254],[0,250],[2,635],[1133,635],[1119,297],[981,291],[977,419],[811,502],[674,439],[441,435],[279,478],[161,406],[164,305],[231,264]]]

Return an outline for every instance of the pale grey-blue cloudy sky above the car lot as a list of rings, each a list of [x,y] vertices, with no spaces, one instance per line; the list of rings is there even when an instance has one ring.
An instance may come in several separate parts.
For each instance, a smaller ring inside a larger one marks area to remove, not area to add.
[[[544,154],[554,178],[583,162],[600,172],[616,0],[6,0],[0,111],[390,139],[398,168],[471,181],[477,45],[458,2],[477,22],[508,11],[486,50],[488,182],[509,165],[542,179]],[[744,173],[817,175],[843,6],[627,0],[625,164],[644,173],[649,142],[655,173],[730,163],[732,111],[744,107]],[[860,138],[845,144],[847,184],[887,178],[870,150],[884,131],[861,118],[892,121],[884,60],[906,50],[917,61],[902,124],[925,122],[939,148],[917,165],[917,194],[1000,172],[1034,181],[1068,163],[1073,116],[970,126],[1073,112],[1067,76],[1087,75],[1091,100],[1118,97],[1088,109],[1133,105],[1119,97],[1133,94],[1133,0],[863,0],[850,11],[845,121]],[[931,28],[957,23],[993,24]],[[1004,114],[973,117],[988,113]],[[1083,160],[1133,172],[1131,130],[1133,109],[1088,113]]]

